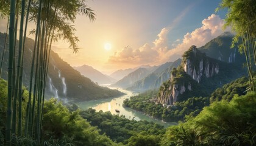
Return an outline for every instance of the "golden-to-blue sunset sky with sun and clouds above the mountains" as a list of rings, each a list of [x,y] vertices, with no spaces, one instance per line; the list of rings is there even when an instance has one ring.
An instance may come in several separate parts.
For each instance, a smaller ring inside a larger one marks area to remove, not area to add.
[[[175,61],[191,45],[200,47],[224,32],[226,12],[215,13],[220,2],[88,0],[96,20],[77,15],[73,25],[80,40],[78,54],[65,41],[55,42],[52,49],[71,66],[87,64],[105,74]],[[0,21],[0,31],[5,32]]]

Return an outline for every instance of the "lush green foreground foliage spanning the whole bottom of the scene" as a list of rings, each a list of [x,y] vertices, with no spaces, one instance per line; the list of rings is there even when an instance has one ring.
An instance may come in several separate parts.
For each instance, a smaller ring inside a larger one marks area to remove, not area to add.
[[[241,82],[243,80],[240,78],[230,85],[224,85],[224,89],[238,82],[240,85],[248,82]],[[0,142],[4,144],[7,82],[1,79],[0,88]],[[94,109],[80,111],[76,105],[67,108],[56,99],[51,99],[44,103],[39,145],[255,145],[256,93],[249,92],[245,96],[235,94],[229,102],[225,96],[230,92],[224,94],[221,101],[211,103],[202,111],[200,109],[201,113],[198,110],[190,113],[184,123],[169,127],[167,131],[153,122],[137,122],[124,116],[113,116],[109,112],[96,112]],[[156,91],[150,91],[144,96],[151,97],[154,94]],[[25,102],[28,96],[28,92],[24,91]],[[176,106],[190,107],[196,104],[201,108],[205,104],[202,102],[204,99],[193,97],[186,102],[177,102]],[[23,104],[23,111],[25,108]],[[168,111],[168,108],[165,109]],[[187,110],[184,113],[187,114]],[[12,139],[16,140],[15,145],[37,144],[31,137],[13,135]]]

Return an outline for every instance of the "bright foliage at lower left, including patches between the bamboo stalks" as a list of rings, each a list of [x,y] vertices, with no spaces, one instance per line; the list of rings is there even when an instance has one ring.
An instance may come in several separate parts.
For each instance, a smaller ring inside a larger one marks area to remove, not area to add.
[[[0,145],[4,145],[7,82],[0,78]],[[28,99],[28,92],[23,93],[24,104]],[[42,137],[40,145],[116,145],[105,134],[99,134],[96,127],[92,127],[87,120],[79,115],[79,109],[70,111],[56,99],[44,103],[42,123]],[[24,120],[23,120],[24,124]],[[164,133],[164,131],[162,132]],[[13,136],[15,145],[37,145],[32,137]]]

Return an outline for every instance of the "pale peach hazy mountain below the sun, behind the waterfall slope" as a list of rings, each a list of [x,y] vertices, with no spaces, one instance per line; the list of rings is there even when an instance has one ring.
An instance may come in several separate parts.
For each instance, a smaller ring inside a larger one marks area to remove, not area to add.
[[[99,84],[110,84],[116,82],[114,78],[108,77],[107,75],[102,74],[93,67],[87,66],[85,64],[83,66],[74,67],[74,69],[79,71],[85,77],[93,80],[93,82],[97,82]]]

